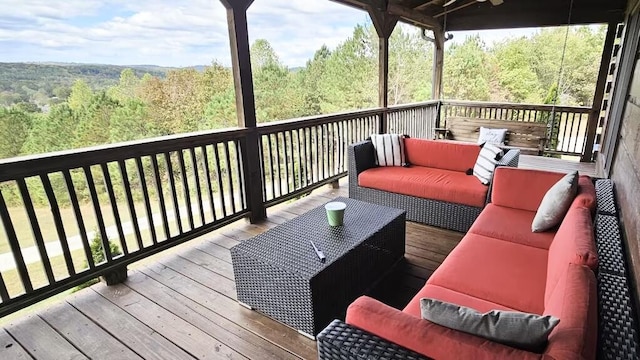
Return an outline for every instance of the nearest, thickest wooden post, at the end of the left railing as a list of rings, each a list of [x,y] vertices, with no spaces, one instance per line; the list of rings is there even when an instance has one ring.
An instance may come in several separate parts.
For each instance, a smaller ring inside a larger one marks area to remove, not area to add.
[[[227,8],[229,40],[231,42],[231,67],[236,91],[238,125],[249,129],[242,146],[244,192],[251,211],[252,223],[263,220],[267,212],[262,199],[262,171],[260,169],[259,136],[256,128],[256,104],[253,94],[251,56],[249,54],[249,30],[247,9],[253,0],[220,0]]]

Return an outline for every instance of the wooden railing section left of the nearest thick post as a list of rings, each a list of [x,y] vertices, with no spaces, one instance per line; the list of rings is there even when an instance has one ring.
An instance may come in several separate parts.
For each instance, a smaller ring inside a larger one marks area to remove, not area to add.
[[[0,244],[10,249],[0,261],[0,316],[245,216],[245,134],[228,129],[0,161]]]

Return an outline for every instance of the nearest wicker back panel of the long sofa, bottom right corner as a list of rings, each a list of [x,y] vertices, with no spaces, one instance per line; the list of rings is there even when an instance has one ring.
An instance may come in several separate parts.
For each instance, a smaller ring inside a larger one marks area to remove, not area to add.
[[[631,294],[623,276],[598,274],[598,358],[638,359],[638,333]]]

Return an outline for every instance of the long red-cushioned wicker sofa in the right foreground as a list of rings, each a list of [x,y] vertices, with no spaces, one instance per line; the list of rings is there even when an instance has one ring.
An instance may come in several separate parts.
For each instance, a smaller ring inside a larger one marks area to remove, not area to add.
[[[498,168],[491,203],[403,310],[363,296],[318,335],[319,359],[595,359],[598,255],[596,192],[578,195],[556,230],[531,232],[546,191],[563,174]],[[540,352],[525,351],[423,320],[420,299],[486,312],[511,310],[560,319]]]

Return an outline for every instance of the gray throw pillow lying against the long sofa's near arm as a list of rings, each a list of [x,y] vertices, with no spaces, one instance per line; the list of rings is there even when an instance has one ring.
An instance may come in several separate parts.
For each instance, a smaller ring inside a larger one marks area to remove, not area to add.
[[[478,311],[435,299],[420,299],[422,318],[450,329],[483,337],[515,348],[541,352],[549,333],[560,322],[553,316],[517,311]]]

